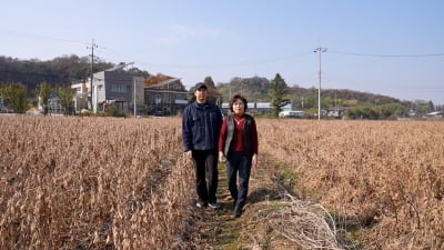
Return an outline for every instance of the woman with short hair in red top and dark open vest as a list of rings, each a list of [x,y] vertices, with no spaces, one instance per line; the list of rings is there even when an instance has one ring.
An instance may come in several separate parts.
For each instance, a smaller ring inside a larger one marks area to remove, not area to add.
[[[246,108],[244,97],[235,94],[231,99],[232,113],[223,119],[219,138],[219,161],[226,161],[226,178],[236,218],[242,214],[245,204],[251,168],[258,166],[256,123],[253,117],[245,113]]]

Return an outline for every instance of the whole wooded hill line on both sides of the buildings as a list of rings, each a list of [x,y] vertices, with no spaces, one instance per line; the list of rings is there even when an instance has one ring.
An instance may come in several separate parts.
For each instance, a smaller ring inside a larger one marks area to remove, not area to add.
[[[103,71],[114,66],[110,62],[97,60],[93,64],[93,72]],[[131,68],[128,72],[145,79],[150,77],[148,71],[138,68]],[[33,106],[37,106],[37,97],[40,97],[43,110],[47,112],[47,97],[49,98],[51,93],[56,92],[62,106],[64,103],[70,107],[70,102],[62,100],[61,97],[69,99],[68,97],[73,94],[73,90],[70,89],[71,83],[75,81],[85,82],[90,73],[89,57],[60,57],[49,61],[0,57],[0,104],[6,102],[16,112],[24,112],[28,109],[26,103],[29,102],[29,99],[31,99]],[[262,77],[233,78],[230,82],[214,84],[211,77],[206,77],[204,82],[219,91],[224,101],[228,101],[234,93],[241,93],[249,101],[271,102],[273,107],[271,116],[273,117],[278,117],[279,111],[287,103],[292,103],[292,109],[304,110],[309,114],[314,114],[317,110],[316,88],[289,87],[279,73],[271,80]],[[222,100],[219,101],[222,102]],[[411,110],[423,116],[433,110],[443,109],[443,107],[435,107],[432,101],[400,101],[386,96],[353,90],[322,90],[321,108],[329,110],[337,107],[346,108],[349,110],[347,116],[354,119],[404,117]],[[68,108],[67,110],[69,111]]]

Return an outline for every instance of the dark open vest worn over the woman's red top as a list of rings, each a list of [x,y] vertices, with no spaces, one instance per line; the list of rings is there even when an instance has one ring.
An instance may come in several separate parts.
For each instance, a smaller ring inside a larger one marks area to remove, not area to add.
[[[243,114],[245,122],[243,123],[243,150],[246,156],[253,156],[253,137],[251,134],[251,127],[253,122],[253,118],[250,114]],[[230,144],[233,140],[234,136],[234,116],[230,114],[226,118],[226,139],[225,139],[225,148],[223,153],[225,157],[229,156]]]

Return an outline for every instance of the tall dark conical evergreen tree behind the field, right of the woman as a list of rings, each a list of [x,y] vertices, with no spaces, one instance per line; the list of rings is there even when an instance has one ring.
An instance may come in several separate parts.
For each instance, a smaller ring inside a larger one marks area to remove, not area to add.
[[[279,112],[282,111],[282,107],[290,103],[287,99],[289,87],[285,80],[281,78],[281,74],[276,73],[274,79],[270,82],[269,97],[271,99],[272,114],[278,118]]]

